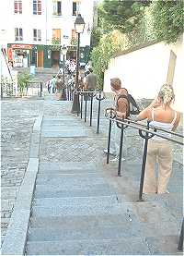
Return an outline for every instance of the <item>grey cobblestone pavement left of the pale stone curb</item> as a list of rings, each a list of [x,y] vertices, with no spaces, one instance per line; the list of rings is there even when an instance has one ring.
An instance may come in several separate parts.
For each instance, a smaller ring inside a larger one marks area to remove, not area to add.
[[[43,101],[29,98],[1,102],[1,236],[6,235],[17,192],[29,161],[29,142]]]

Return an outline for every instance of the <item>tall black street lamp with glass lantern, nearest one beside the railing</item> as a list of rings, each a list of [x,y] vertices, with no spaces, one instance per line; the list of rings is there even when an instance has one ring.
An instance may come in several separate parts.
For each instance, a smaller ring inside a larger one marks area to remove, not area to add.
[[[81,14],[78,14],[75,19],[75,32],[78,34],[78,43],[77,43],[77,54],[76,54],[76,84],[75,90],[78,91],[78,75],[79,75],[79,58],[80,58],[80,34],[83,33],[85,29],[85,20],[81,17]],[[79,103],[79,94],[74,93],[74,101],[72,105],[72,113],[80,113],[80,103]]]

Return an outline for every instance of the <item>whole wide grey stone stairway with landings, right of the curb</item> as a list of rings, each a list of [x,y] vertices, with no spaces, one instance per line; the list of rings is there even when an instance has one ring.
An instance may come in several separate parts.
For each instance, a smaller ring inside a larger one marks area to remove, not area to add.
[[[140,140],[132,141],[117,177],[117,163],[106,165],[103,154],[108,121],[103,118],[97,135],[70,110],[69,102],[44,103],[26,254],[179,254],[182,165],[174,162],[170,194],[137,202]]]

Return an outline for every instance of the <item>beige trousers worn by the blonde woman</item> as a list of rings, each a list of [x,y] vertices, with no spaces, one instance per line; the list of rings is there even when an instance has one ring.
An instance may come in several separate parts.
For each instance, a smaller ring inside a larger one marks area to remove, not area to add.
[[[155,164],[158,177],[155,178]],[[144,175],[144,193],[166,193],[172,172],[172,148],[167,140],[149,140]]]

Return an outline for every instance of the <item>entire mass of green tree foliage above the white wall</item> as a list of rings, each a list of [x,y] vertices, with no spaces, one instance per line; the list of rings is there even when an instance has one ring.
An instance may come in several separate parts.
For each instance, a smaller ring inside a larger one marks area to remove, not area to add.
[[[155,39],[175,43],[184,31],[183,0],[104,0],[98,6],[98,28],[92,32],[91,53],[98,85],[113,55]]]

